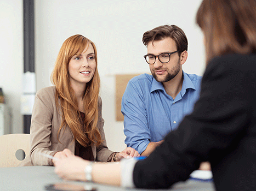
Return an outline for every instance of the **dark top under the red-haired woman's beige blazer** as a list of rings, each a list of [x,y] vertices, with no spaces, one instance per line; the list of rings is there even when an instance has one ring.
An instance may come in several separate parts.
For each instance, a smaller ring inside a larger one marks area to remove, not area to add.
[[[84,126],[84,119],[85,119],[86,115],[83,112],[80,112],[80,115],[82,118],[81,123]],[[87,134],[85,133],[84,136],[87,136]],[[77,142],[77,140],[76,140],[75,156],[82,157],[85,160],[94,161],[92,146],[84,147],[81,144],[79,144],[79,142]]]

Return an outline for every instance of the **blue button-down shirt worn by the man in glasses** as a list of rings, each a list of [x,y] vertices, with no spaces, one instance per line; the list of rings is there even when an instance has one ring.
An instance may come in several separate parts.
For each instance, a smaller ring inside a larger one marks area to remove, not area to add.
[[[121,109],[127,146],[141,154],[149,142],[161,141],[176,129],[183,117],[192,112],[200,94],[201,79],[183,71],[181,91],[173,99],[152,75],[133,77],[123,94]]]

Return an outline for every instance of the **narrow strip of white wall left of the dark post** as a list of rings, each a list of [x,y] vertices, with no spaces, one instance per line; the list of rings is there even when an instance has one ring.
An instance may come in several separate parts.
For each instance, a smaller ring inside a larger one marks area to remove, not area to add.
[[[22,1],[0,0],[0,87],[11,109],[12,133],[22,133],[20,114],[23,73]]]

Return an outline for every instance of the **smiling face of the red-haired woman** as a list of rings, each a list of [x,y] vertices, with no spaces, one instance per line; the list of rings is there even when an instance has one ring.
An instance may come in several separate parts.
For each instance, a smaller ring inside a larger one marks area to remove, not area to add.
[[[71,86],[86,87],[95,73],[96,61],[92,44],[89,44],[81,55],[74,55],[69,62],[69,77]]]

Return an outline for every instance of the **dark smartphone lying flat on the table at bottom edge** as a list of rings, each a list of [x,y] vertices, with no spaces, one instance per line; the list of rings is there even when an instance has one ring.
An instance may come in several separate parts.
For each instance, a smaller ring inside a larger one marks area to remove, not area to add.
[[[96,191],[97,189],[89,184],[55,183],[44,187],[52,191]]]

